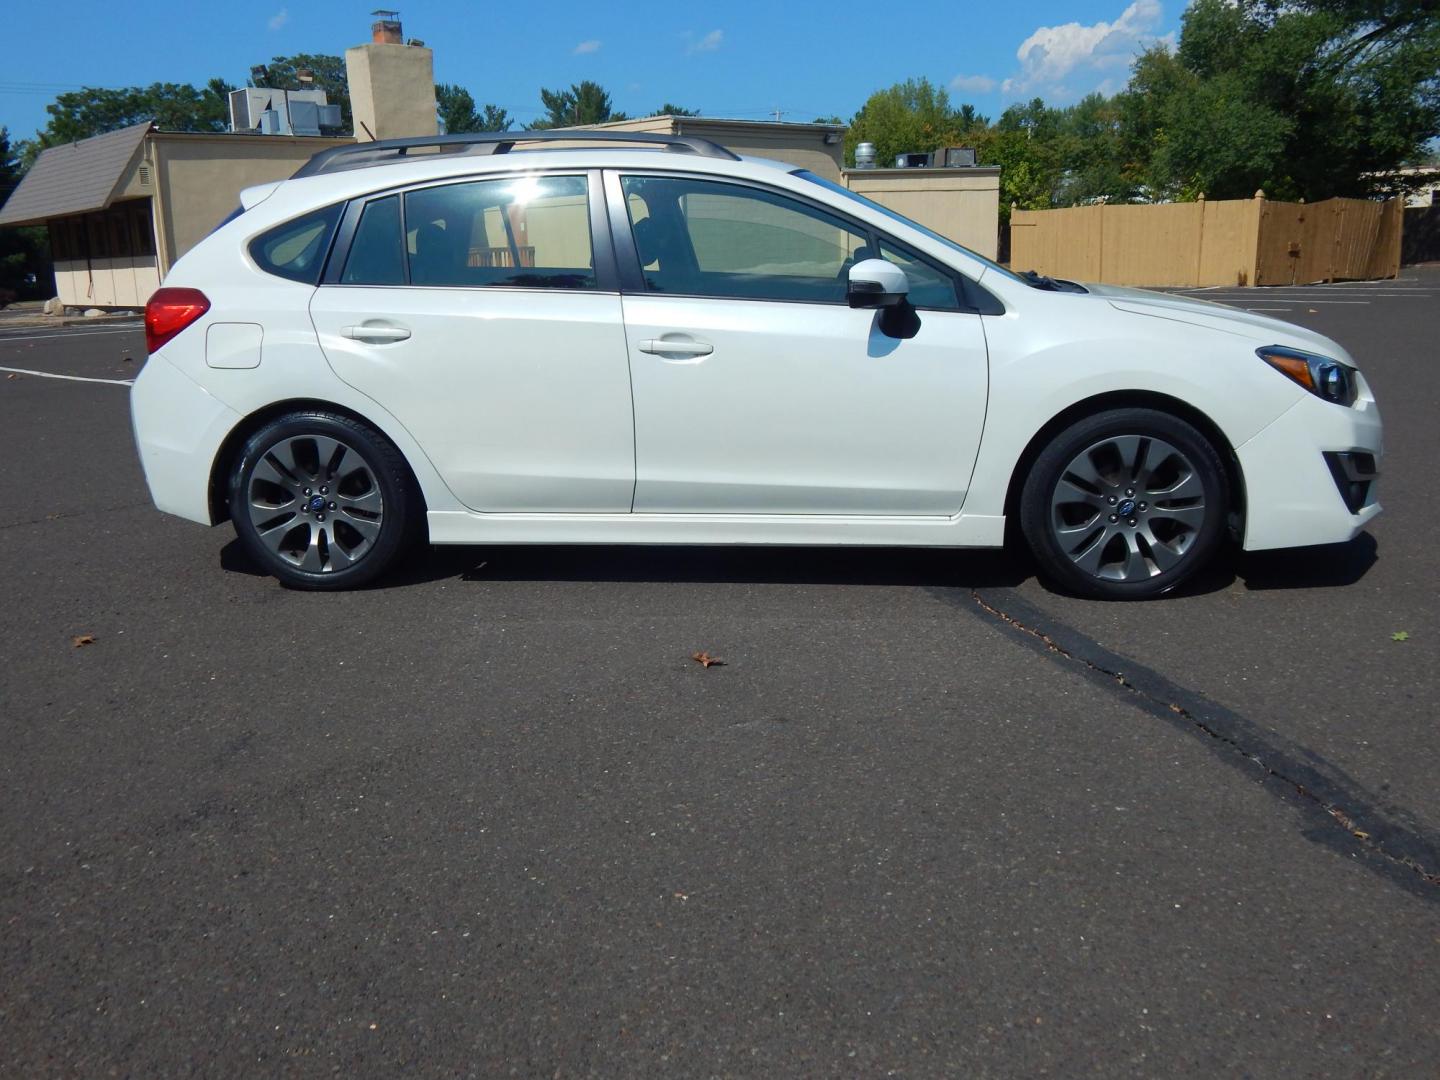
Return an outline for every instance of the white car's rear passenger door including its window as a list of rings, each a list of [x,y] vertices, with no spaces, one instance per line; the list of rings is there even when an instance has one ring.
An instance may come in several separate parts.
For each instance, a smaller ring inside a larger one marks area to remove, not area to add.
[[[579,173],[465,179],[347,210],[310,305],[320,344],[472,510],[631,508],[629,372],[602,204],[599,174]]]

